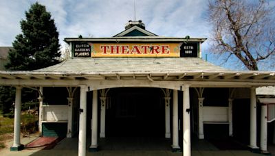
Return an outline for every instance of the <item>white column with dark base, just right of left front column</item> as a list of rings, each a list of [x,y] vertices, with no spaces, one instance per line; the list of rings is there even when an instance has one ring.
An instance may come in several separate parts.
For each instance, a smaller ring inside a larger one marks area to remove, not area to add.
[[[93,90],[93,104],[91,116],[91,146],[89,151],[98,151],[98,90]]]

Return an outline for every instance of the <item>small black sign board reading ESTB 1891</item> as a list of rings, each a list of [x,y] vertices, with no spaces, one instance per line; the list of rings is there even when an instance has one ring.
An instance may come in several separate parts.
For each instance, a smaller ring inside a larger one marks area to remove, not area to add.
[[[198,47],[198,42],[184,42],[181,45],[180,57],[197,57]]]

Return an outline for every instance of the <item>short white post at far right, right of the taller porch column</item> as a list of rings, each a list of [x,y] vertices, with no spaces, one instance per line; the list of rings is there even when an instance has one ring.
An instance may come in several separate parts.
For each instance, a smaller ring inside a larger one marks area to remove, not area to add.
[[[261,107],[261,151],[267,152],[267,105]]]

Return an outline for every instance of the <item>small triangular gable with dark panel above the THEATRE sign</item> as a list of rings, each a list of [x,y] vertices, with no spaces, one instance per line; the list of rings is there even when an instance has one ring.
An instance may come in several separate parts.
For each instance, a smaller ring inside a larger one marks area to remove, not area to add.
[[[140,27],[137,27],[136,25],[126,29],[119,34],[116,34],[113,37],[123,37],[123,36],[157,36],[156,34],[153,34],[150,31],[147,31],[146,29],[142,29]]]

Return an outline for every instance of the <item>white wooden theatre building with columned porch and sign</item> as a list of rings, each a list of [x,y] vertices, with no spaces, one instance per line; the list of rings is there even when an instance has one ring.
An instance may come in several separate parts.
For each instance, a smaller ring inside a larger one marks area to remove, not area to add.
[[[236,136],[267,151],[267,105],[274,100],[257,99],[256,88],[275,86],[275,71],[214,66],[201,59],[205,40],[157,36],[129,21],[111,38],[65,38],[72,57],[55,66],[0,71],[0,85],[16,88],[11,149],[22,147],[21,89],[31,87],[40,88],[41,135],[78,136],[78,155],[86,154],[87,139],[97,151],[98,138],[156,136],[188,156],[192,133]]]

